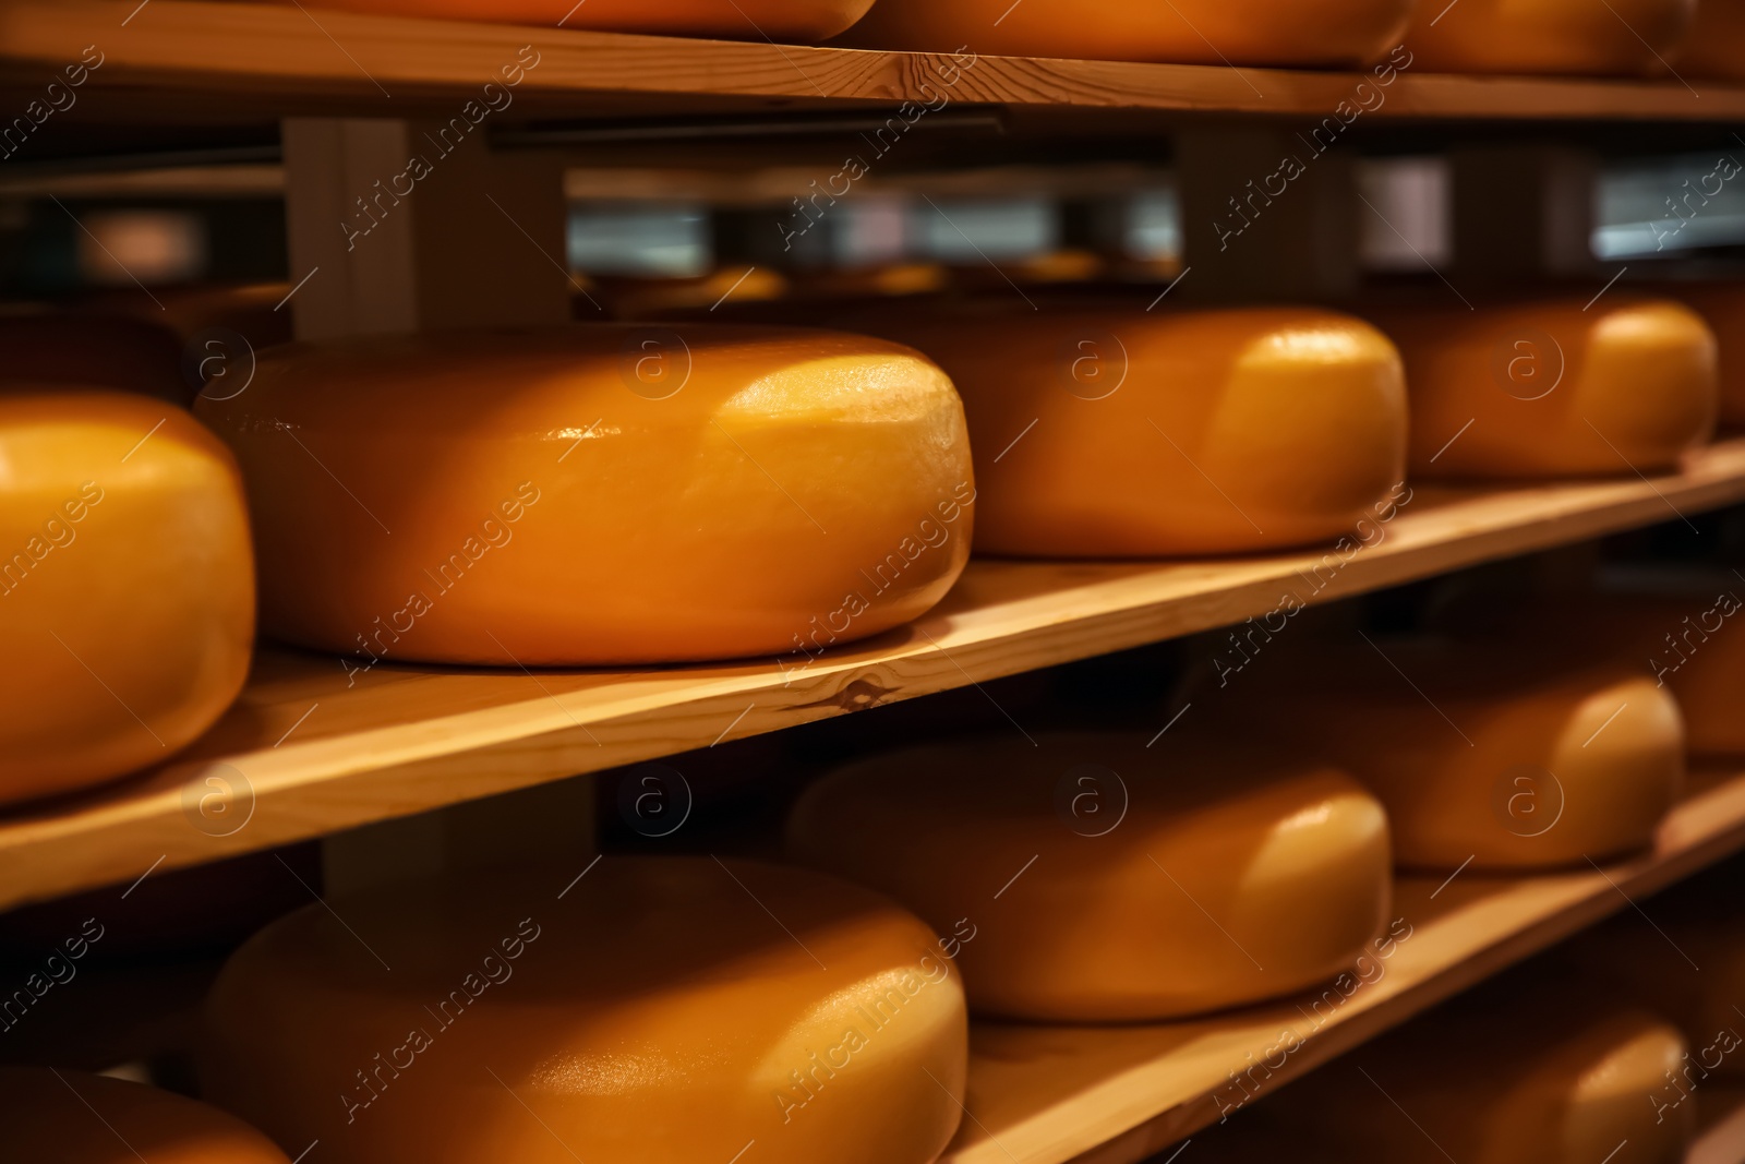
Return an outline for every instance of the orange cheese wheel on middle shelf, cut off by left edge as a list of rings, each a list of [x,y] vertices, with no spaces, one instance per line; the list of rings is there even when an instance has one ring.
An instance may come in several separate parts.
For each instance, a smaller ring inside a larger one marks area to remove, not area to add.
[[[243,689],[255,567],[236,462],[115,393],[0,393],[0,803],[168,759]]]

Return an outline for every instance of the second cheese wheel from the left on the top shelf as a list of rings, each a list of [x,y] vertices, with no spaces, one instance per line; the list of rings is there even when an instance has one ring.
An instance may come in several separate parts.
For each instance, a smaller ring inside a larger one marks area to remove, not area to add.
[[[1410,0],[879,0],[843,44],[1180,65],[1366,65],[1398,44]]]

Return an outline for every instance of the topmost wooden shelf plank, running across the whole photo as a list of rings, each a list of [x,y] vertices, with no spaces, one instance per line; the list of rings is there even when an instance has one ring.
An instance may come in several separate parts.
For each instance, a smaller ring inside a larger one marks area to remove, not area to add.
[[[140,7],[143,10],[134,12]],[[752,30],[747,37],[754,38]],[[539,66],[518,91],[544,108],[724,112],[831,108],[845,103],[937,101],[923,91],[948,56],[808,49],[764,42],[628,37],[555,28],[372,17],[293,5],[202,0],[3,0],[0,79],[38,79],[98,44],[105,65],[87,94],[126,99],[134,115],[174,94],[222,94],[173,106],[201,120],[267,98],[277,112],[333,101],[354,115],[405,115],[408,101],[466,99],[517,49]],[[974,51],[974,45],[968,45]],[[955,103],[1201,110],[1267,115],[1331,113],[1359,73],[1197,65],[1133,65],[1050,58],[981,58],[951,91]],[[1616,119],[1726,122],[1745,117],[1745,87],[1639,80],[1448,77],[1406,72],[1366,119]],[[602,103],[600,98],[612,98]],[[628,105],[626,105],[626,99]],[[122,108],[112,103],[110,110]]]

